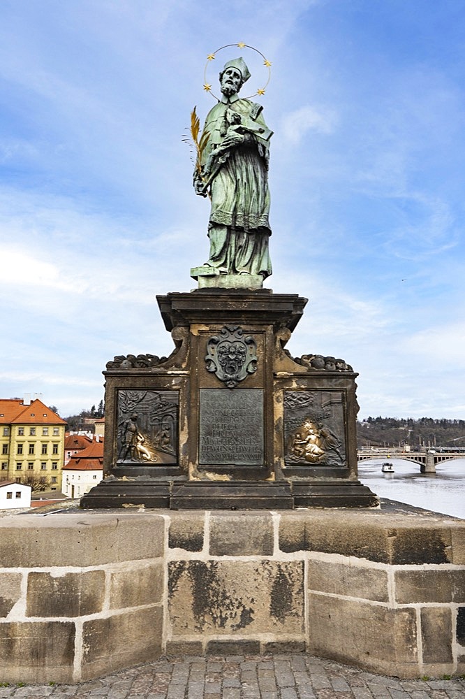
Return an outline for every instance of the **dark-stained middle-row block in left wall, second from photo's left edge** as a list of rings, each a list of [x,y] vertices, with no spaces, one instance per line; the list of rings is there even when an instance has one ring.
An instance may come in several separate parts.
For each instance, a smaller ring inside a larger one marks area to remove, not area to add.
[[[101,612],[105,572],[30,572],[27,577],[27,617],[84,617]]]

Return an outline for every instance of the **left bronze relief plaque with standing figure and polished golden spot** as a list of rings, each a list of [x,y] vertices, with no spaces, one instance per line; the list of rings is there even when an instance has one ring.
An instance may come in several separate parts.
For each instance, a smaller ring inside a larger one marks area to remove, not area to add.
[[[178,391],[118,391],[117,463],[177,463]]]

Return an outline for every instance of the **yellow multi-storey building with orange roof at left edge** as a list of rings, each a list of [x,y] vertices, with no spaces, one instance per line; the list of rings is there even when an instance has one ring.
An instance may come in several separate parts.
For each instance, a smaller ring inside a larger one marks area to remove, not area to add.
[[[41,482],[60,492],[65,429],[66,422],[37,398],[0,398],[0,479]]]

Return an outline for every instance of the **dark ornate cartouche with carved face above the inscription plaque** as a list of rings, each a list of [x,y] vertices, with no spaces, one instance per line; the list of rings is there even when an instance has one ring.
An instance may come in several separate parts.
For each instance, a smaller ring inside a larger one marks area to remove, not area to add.
[[[225,325],[219,335],[207,342],[207,371],[216,374],[230,389],[256,372],[257,361],[255,340],[244,337],[238,326]]]

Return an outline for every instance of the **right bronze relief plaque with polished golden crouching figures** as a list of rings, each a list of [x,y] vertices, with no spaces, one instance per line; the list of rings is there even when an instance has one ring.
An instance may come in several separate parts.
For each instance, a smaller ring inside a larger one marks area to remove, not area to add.
[[[341,391],[284,391],[286,466],[345,466]]]

